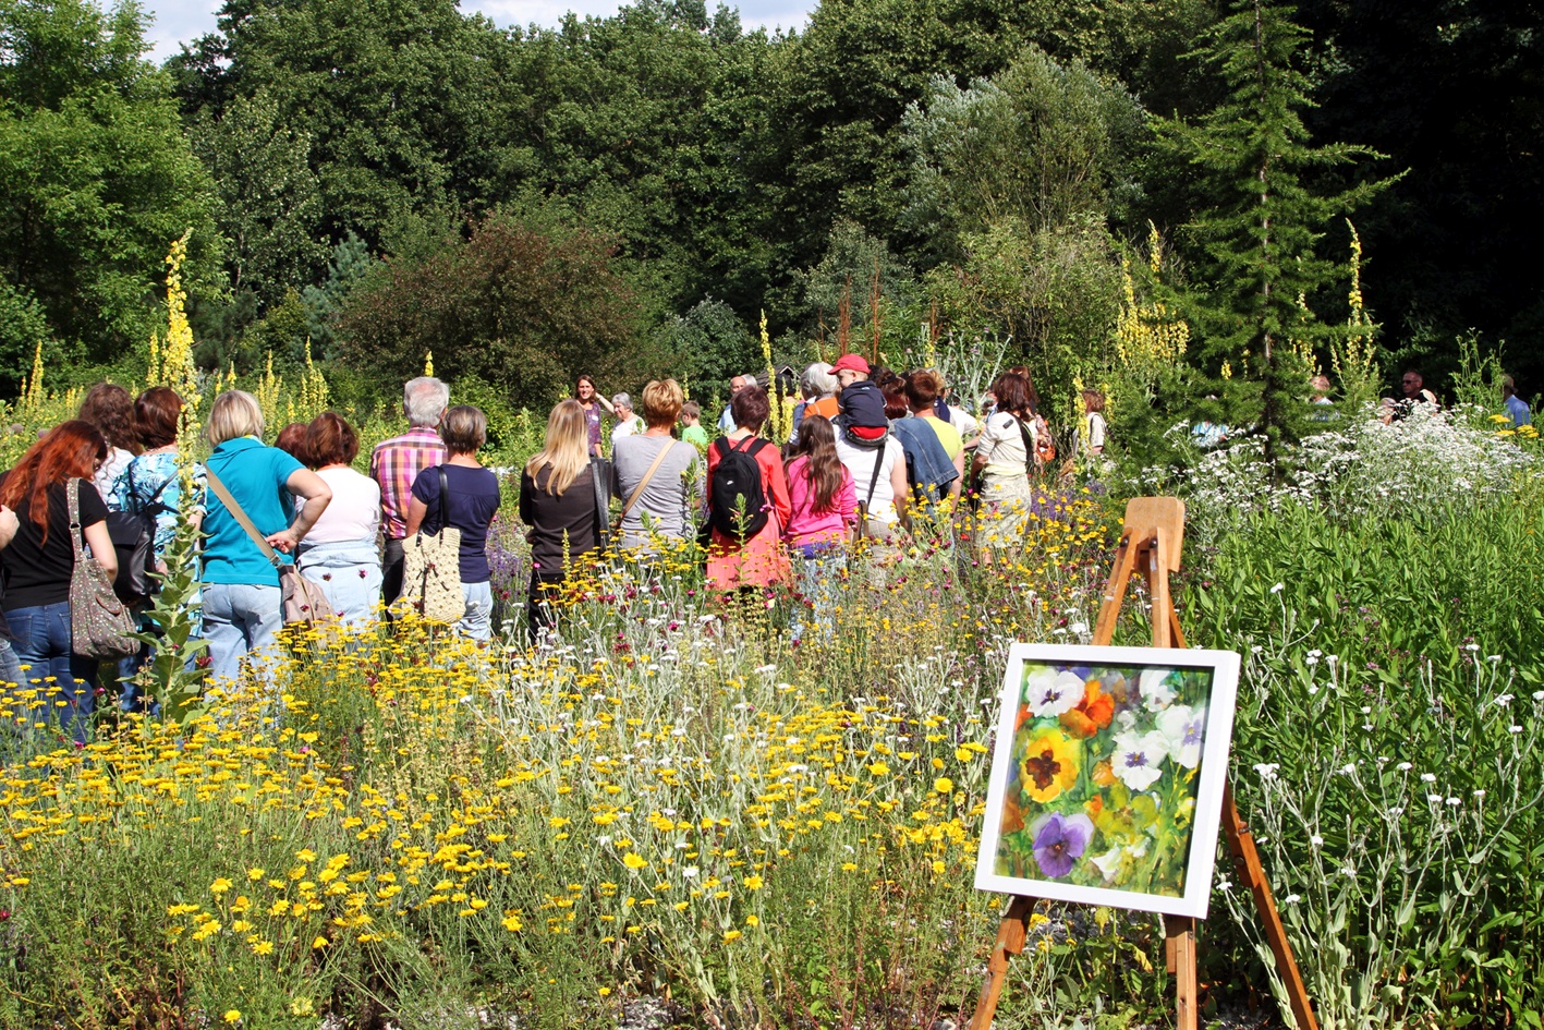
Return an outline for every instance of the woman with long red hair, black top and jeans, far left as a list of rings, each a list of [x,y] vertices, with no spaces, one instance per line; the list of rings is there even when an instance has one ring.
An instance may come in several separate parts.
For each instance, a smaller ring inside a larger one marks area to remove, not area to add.
[[[69,574],[76,548],[65,488],[76,491],[80,540],[111,579],[117,554],[107,533],[107,505],[91,482],[108,456],[107,440],[96,426],[71,420],[51,429],[0,477],[0,505],[12,508],[19,523],[0,559],[5,565],[0,610],[15,639],[15,656],[22,666],[31,666],[28,679],[39,683],[46,698],[43,710],[49,718],[60,717],[77,743],[86,738],[96,662],[71,650]],[[56,704],[60,700],[62,707]]]

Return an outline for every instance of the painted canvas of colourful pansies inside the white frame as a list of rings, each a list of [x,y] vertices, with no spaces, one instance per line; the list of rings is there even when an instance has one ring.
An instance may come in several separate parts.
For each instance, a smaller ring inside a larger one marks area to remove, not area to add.
[[[1025,661],[993,871],[1183,897],[1212,679]]]

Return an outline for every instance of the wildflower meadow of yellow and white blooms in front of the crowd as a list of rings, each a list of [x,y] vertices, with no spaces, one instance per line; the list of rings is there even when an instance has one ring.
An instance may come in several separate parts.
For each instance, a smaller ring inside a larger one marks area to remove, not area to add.
[[[1232,775],[1326,1027],[1539,1025],[1533,448],[1348,423],[1285,485],[1244,443],[1126,488],[1190,505],[1181,619],[1246,656]],[[960,1019],[1001,906],[971,882],[1007,650],[1087,639],[1118,503],[1044,494],[990,561],[943,523],[855,562],[797,645],[808,599],[726,604],[681,547],[587,565],[533,649],[510,517],[491,647],[295,636],[272,686],[105,717],[82,750],[46,684],[6,696],[0,1025]],[[1274,1011],[1226,868],[1206,1013]],[[1170,1018],[1156,917],[1042,906],[1031,940],[1004,1025]]]

